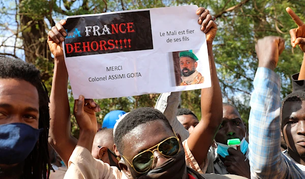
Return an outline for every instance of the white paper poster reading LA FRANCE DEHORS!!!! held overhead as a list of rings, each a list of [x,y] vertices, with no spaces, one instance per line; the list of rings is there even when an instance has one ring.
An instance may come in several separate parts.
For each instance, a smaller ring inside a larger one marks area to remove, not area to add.
[[[65,62],[75,99],[211,86],[197,6],[69,16]]]

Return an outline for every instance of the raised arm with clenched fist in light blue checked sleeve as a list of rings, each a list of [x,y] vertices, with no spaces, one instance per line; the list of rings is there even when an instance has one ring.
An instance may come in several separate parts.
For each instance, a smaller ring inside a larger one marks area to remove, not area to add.
[[[260,39],[255,47],[259,63],[250,101],[251,178],[285,178],[288,172],[280,148],[281,81],[273,71],[284,48],[284,40],[273,36]]]

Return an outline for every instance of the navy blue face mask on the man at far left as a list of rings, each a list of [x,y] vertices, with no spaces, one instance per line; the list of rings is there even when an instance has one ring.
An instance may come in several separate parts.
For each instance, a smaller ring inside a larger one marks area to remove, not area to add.
[[[0,125],[0,164],[24,161],[33,151],[42,130],[23,123]]]

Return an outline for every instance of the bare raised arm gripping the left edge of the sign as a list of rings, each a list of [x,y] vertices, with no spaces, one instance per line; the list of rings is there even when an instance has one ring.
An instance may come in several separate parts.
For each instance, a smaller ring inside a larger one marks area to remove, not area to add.
[[[68,72],[63,48],[60,45],[67,35],[61,20],[48,33],[48,44],[54,55],[54,73],[50,95],[49,143],[67,165],[77,140],[71,136],[70,106],[68,100]]]

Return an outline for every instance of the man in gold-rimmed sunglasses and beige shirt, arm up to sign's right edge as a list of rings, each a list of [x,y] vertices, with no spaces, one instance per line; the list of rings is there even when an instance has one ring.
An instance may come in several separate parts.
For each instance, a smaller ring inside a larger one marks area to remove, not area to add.
[[[208,10],[199,8],[198,20],[206,33],[211,69],[212,87],[201,91],[202,120],[190,135],[189,145],[194,156],[204,161],[209,146],[222,122],[222,97],[217,78],[211,42],[217,25],[211,20]],[[93,128],[89,120],[79,124],[80,129]],[[196,131],[196,132],[195,132]],[[88,134],[81,134],[69,162],[65,178],[244,178],[236,175],[199,174],[186,166],[185,151],[179,136],[174,133],[167,118],[153,108],[139,108],[127,114],[118,123],[114,132],[116,151],[121,159],[121,171],[96,160],[90,154],[92,141]],[[82,136],[84,135],[84,136]],[[201,141],[201,142],[198,142]]]

